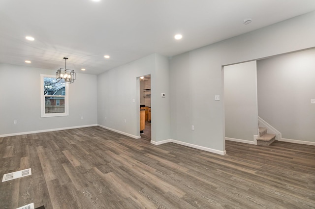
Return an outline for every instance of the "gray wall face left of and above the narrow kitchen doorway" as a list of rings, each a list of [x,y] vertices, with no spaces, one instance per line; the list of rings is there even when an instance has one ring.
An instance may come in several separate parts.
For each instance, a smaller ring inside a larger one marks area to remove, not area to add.
[[[140,82],[137,77],[151,74],[154,70],[155,55],[153,54],[98,75],[97,123],[138,136],[140,134],[140,122],[138,123],[137,119],[140,115]],[[135,99],[134,103],[133,99]]]

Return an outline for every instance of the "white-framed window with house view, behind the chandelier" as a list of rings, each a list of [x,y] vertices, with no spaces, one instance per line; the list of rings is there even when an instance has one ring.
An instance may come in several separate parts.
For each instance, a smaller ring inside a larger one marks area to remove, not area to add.
[[[41,117],[69,115],[68,84],[51,75],[40,75],[40,79]]]

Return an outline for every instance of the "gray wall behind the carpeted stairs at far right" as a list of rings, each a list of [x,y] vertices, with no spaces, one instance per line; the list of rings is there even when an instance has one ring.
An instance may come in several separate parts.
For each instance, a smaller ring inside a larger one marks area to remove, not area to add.
[[[257,61],[258,115],[282,138],[315,142],[315,49]]]

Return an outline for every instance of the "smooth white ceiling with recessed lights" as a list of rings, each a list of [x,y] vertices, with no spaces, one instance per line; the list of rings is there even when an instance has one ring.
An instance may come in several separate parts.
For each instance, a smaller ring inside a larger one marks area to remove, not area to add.
[[[68,57],[67,68],[97,75],[311,11],[315,0],[0,0],[0,63],[57,70]],[[245,18],[252,23],[244,25]]]

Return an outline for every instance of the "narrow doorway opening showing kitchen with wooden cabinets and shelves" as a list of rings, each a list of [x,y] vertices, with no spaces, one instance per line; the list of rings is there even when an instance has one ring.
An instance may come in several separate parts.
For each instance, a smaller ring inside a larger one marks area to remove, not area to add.
[[[151,141],[151,75],[140,77],[140,136]]]

